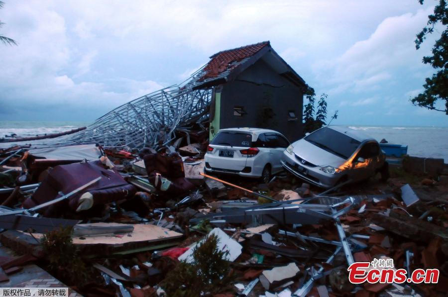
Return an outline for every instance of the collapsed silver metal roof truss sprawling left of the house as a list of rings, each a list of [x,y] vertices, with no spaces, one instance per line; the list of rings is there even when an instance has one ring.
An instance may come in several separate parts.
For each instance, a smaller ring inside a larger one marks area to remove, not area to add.
[[[194,90],[202,74],[203,68],[182,84],[118,106],[86,130],[58,143],[130,149],[166,145],[176,137],[178,127],[207,119],[213,88]]]

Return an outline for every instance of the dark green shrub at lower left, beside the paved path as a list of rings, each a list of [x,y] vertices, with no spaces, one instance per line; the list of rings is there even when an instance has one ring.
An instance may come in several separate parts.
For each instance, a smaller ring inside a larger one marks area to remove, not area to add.
[[[71,227],[61,227],[42,237],[43,251],[49,261],[49,269],[67,285],[82,285],[89,278],[89,270],[79,256],[72,241]]]

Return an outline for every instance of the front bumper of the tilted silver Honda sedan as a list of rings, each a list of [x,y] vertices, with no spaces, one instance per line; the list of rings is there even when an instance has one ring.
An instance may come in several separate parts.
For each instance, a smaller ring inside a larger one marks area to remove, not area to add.
[[[280,161],[282,163],[282,166],[291,172],[293,175],[309,182],[310,184],[313,184],[315,186],[330,189],[333,188],[337,181],[339,180],[339,175],[331,175],[327,174],[325,172],[322,172],[320,170],[320,167],[313,167],[308,168],[302,165],[299,165],[296,161],[294,156],[286,156],[286,154],[283,155],[282,160]],[[297,169],[297,166],[301,166],[304,168],[303,171],[299,171]]]

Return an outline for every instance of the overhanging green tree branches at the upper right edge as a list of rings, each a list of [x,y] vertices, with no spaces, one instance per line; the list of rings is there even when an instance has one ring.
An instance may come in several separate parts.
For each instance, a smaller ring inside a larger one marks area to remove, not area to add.
[[[419,0],[423,4],[423,0]],[[428,34],[432,34],[435,26],[441,23],[445,26],[441,37],[433,46],[432,56],[423,57],[423,63],[430,64],[438,70],[431,78],[425,79],[423,87],[425,91],[413,99],[411,102],[420,107],[443,111],[448,114],[448,8],[446,0],[439,0],[439,5],[434,8],[434,14],[428,15],[427,26],[417,34],[415,40],[416,48],[419,49]],[[437,109],[437,101],[445,101],[445,110]]]

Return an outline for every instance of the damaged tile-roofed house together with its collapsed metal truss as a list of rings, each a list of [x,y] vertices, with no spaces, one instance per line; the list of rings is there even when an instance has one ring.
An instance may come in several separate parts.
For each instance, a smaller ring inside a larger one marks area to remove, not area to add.
[[[185,82],[126,102],[87,129],[47,144],[157,149],[194,123],[210,123],[210,139],[223,128],[260,127],[292,141],[303,136],[306,88],[270,42],[260,42],[219,52]]]

